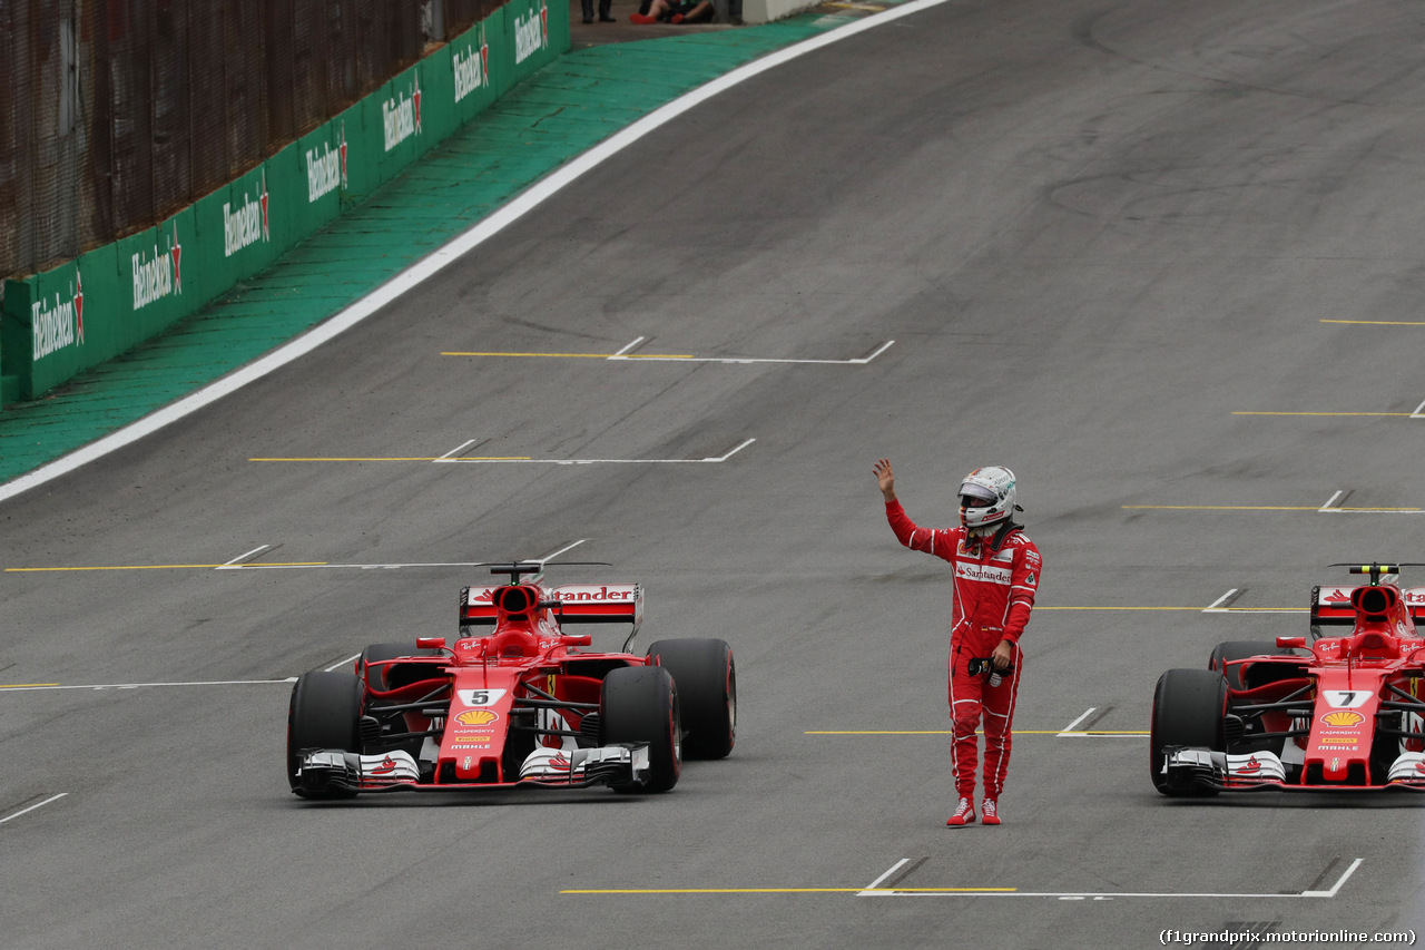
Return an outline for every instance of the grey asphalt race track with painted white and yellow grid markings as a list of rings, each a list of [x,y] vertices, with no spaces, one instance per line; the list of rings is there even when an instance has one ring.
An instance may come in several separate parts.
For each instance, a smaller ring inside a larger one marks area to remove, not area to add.
[[[1327,563],[1425,561],[1422,43],[1404,1],[946,3],[6,502],[0,944],[1419,930],[1425,800],[1167,800],[1143,730],[1164,669],[1305,633]],[[1009,465],[1045,553],[999,829],[945,827],[949,589],[882,455],[936,525]],[[288,678],[574,542],[616,566],[556,578],[641,581],[644,645],[732,643],[730,759],[667,796],[288,792]]]

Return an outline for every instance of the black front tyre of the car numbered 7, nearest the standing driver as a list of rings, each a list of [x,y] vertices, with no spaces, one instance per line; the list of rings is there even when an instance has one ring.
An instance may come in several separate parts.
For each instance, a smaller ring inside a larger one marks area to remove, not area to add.
[[[1227,680],[1210,669],[1170,669],[1153,692],[1153,735],[1149,740],[1149,769],[1153,786],[1173,797],[1211,796],[1217,789],[1187,785],[1163,775],[1168,746],[1206,747],[1227,752],[1223,717],[1227,713]]]

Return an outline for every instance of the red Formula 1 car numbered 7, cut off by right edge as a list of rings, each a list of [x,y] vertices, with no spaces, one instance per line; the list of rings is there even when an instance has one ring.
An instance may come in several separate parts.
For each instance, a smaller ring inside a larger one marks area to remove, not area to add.
[[[1425,790],[1425,588],[1389,583],[1401,565],[1331,566],[1369,582],[1314,588],[1310,642],[1218,643],[1208,669],[1163,673],[1159,792]]]

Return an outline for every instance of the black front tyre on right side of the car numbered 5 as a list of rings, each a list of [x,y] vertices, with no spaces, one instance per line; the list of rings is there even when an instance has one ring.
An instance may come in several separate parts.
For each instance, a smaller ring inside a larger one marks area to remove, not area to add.
[[[647,785],[616,785],[614,792],[667,792],[683,773],[683,722],[678,686],[660,666],[621,666],[604,676],[598,696],[598,745],[648,743]]]

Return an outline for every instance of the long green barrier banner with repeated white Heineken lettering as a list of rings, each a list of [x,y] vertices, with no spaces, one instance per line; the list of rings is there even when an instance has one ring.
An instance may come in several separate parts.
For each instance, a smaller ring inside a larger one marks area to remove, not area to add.
[[[34,399],[271,267],[569,46],[569,4],[512,0],[157,227],[7,280],[3,399]]]

